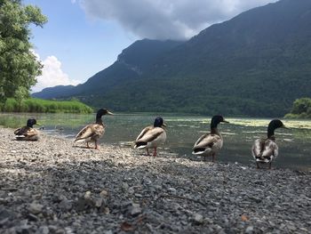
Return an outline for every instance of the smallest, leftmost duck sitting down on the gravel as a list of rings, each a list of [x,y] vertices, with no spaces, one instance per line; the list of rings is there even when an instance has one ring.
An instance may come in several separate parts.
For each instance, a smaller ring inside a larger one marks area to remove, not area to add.
[[[16,135],[16,140],[18,141],[37,141],[39,139],[38,132],[35,128],[33,128],[34,125],[39,125],[36,123],[35,118],[29,118],[27,120],[27,125],[22,126],[14,131],[14,134]]]

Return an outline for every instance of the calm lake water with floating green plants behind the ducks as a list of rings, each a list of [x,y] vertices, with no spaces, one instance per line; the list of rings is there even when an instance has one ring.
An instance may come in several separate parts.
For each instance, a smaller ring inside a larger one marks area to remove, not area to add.
[[[36,117],[44,125],[44,133],[59,134],[73,139],[76,133],[88,123],[94,122],[92,115],[76,114],[0,114],[0,125],[19,127],[25,125],[28,117]],[[147,113],[116,114],[104,116],[107,125],[106,133],[100,140],[122,146],[128,146],[134,141],[141,129],[152,125],[156,115]],[[194,117],[164,114],[167,123],[167,141],[163,146],[171,152],[178,153],[180,157],[190,157],[194,142],[200,135],[210,129],[211,117]],[[223,149],[216,157],[222,162],[239,162],[255,165],[251,157],[251,144],[267,135],[267,124],[270,119],[258,118],[230,118],[230,124],[220,124],[219,131],[224,138]],[[279,146],[279,157],[274,167],[285,167],[302,170],[311,170],[311,121],[283,120],[284,125],[290,129],[275,130],[276,141]],[[160,149],[161,150],[161,149]]]

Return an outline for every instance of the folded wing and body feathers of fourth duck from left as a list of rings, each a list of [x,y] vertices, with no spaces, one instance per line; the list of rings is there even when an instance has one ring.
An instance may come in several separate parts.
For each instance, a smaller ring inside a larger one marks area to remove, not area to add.
[[[194,146],[194,152],[204,151],[207,148],[220,149],[222,147],[222,139],[218,134],[203,134]]]

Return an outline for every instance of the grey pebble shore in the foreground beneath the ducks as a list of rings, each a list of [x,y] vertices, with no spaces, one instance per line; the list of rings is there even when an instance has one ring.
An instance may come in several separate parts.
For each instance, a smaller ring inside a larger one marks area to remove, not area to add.
[[[311,173],[0,128],[0,233],[311,233]]]

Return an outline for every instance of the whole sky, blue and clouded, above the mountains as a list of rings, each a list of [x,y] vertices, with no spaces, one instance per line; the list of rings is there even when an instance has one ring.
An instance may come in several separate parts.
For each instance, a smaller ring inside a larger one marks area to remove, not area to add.
[[[31,26],[31,42],[44,64],[32,93],[77,85],[114,63],[143,38],[187,40],[214,23],[276,0],[24,0],[48,22]]]

